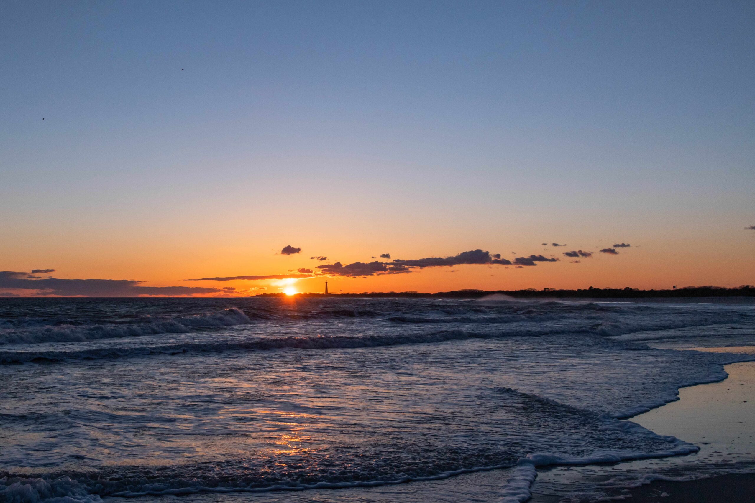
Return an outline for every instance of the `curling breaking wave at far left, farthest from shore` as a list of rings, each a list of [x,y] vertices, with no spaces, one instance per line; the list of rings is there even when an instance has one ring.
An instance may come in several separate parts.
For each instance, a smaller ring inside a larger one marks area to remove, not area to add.
[[[137,323],[57,325],[0,330],[0,345],[42,342],[84,342],[97,339],[153,336],[161,333],[188,333],[202,328],[231,327],[251,320],[237,308],[210,314],[175,317],[142,317]]]

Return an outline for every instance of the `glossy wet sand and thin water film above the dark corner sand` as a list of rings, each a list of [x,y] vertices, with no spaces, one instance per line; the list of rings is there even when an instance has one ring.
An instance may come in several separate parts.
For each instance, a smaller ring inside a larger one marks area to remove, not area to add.
[[[751,353],[755,348],[728,349]],[[679,401],[632,419],[659,434],[695,443],[698,452],[613,465],[548,468],[532,486],[532,502],[605,501],[626,497],[627,488],[654,480],[755,471],[755,362],[732,363],[725,369],[729,373],[725,381],[683,388]]]

